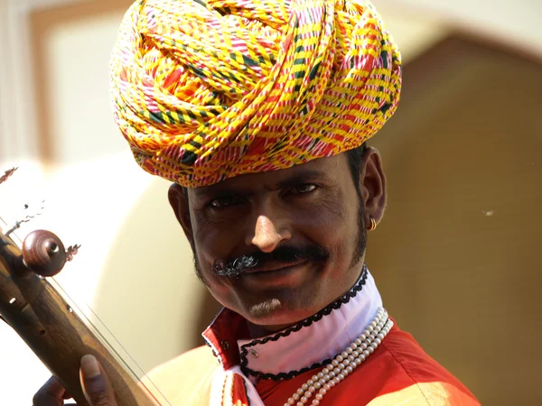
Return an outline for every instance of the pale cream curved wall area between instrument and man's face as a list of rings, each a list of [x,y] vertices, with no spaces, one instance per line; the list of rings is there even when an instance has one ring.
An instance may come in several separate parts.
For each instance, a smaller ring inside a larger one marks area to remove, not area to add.
[[[93,304],[145,372],[201,345],[201,331],[220,309],[195,275],[169,185],[155,179],[126,217]]]

